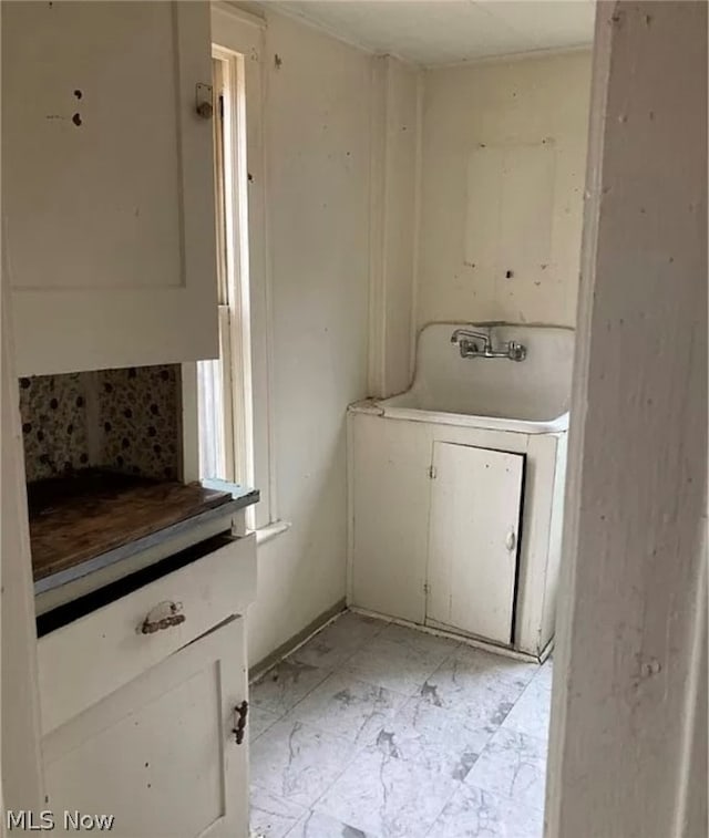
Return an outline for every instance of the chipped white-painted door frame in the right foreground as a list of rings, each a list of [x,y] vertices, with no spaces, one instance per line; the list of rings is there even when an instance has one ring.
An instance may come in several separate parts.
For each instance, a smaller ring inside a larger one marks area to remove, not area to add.
[[[599,3],[596,37],[546,836],[699,838],[707,4]]]

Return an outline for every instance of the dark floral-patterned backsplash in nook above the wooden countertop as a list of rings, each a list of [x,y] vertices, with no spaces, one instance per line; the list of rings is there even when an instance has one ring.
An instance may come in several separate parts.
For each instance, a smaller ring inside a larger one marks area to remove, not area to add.
[[[90,466],[177,479],[179,365],[20,379],[27,480]]]

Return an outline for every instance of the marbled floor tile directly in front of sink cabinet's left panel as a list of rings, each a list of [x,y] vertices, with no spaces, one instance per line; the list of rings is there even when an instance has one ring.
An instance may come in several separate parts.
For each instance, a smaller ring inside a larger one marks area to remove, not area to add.
[[[412,695],[459,645],[454,640],[392,623],[356,652],[345,669],[363,681]]]

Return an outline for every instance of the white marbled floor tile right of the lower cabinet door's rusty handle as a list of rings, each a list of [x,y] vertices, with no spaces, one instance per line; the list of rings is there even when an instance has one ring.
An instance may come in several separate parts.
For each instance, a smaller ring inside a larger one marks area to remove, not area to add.
[[[251,782],[270,794],[309,808],[339,777],[354,746],[297,720],[282,720],[251,748]]]

